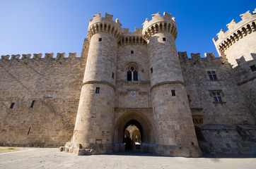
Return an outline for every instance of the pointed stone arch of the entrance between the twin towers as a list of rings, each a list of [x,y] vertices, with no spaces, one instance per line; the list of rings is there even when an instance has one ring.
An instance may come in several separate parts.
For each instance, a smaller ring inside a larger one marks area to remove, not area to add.
[[[151,123],[151,120],[149,120],[146,115],[139,111],[129,111],[121,115],[120,118],[117,118],[115,122],[114,136],[114,142],[116,144],[124,145],[124,133],[127,133],[127,127],[129,127],[130,125],[134,125],[138,128],[140,135],[138,134],[137,136],[139,137],[141,147],[144,147],[144,150],[146,146],[149,146],[149,144],[155,144],[155,140],[153,137],[153,125]],[[129,136],[131,137],[130,133]]]

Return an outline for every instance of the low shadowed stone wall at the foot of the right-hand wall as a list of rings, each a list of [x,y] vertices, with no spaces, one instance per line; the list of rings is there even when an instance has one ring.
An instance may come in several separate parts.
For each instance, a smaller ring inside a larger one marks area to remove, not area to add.
[[[204,125],[196,132],[203,153],[256,154],[255,125]]]

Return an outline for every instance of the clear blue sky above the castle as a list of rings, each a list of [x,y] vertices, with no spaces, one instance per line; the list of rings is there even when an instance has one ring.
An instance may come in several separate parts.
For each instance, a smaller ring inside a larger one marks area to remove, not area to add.
[[[176,18],[178,51],[214,52],[212,38],[232,19],[254,11],[256,0],[0,0],[0,56],[77,52],[81,54],[89,19],[105,13],[119,18],[122,27],[142,27],[146,18],[160,12]]]

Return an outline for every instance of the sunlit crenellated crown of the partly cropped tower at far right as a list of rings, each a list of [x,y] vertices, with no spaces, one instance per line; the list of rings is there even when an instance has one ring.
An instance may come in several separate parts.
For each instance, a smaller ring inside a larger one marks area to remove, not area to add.
[[[256,11],[256,8],[255,8]],[[236,23],[235,20],[231,20],[228,23],[228,31],[223,29],[217,34],[218,38],[213,38],[214,44],[219,53],[226,51],[230,46],[238,42],[243,37],[246,37],[256,30],[256,15],[247,11],[240,15],[242,20]],[[220,54],[221,55],[221,54]]]

